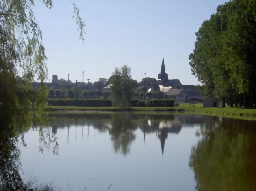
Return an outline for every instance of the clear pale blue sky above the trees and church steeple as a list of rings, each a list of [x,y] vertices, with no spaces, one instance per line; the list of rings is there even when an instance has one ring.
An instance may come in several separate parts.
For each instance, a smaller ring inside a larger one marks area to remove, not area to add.
[[[169,79],[200,84],[191,74],[189,54],[195,32],[226,0],[73,0],[85,22],[85,42],[71,0],[54,0],[53,9],[37,1],[33,8],[43,31],[48,81],[90,82],[109,78],[115,67],[132,69],[132,78],[157,78],[162,57]]]

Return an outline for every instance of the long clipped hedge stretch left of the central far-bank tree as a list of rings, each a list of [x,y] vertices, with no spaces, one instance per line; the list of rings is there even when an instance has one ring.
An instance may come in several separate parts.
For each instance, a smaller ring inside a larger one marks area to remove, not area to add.
[[[111,100],[101,100],[101,99],[66,99],[66,100],[48,100],[49,106],[81,106],[81,107],[110,107],[112,106]]]

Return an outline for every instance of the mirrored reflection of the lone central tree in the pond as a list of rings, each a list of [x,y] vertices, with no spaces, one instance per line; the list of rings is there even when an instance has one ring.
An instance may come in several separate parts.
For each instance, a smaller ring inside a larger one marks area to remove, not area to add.
[[[112,127],[109,133],[116,152],[120,150],[124,155],[130,152],[130,144],[136,137],[133,133],[136,128],[130,114],[115,113],[112,115]]]

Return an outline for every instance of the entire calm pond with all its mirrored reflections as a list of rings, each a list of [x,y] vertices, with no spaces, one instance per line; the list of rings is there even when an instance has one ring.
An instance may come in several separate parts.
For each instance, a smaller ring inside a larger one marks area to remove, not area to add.
[[[39,136],[41,131],[46,135]],[[49,139],[50,140],[47,140]],[[56,190],[255,190],[256,122],[202,115],[50,116],[20,144],[23,180]]]

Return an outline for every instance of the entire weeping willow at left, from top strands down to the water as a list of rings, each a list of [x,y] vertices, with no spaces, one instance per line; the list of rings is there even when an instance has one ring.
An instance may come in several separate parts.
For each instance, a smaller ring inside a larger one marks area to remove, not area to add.
[[[52,8],[53,0],[41,2],[47,8]],[[72,4],[83,41],[85,25],[78,8]],[[36,108],[35,116],[42,119],[47,96],[43,84],[47,78],[47,57],[42,43],[42,31],[32,11],[33,6],[34,0],[0,0],[0,190],[28,190],[24,188],[19,174],[18,136],[30,127],[30,107]],[[18,68],[22,70],[22,80],[17,75]],[[35,79],[41,82],[39,91],[30,86]],[[56,140],[51,133],[44,135],[42,127],[39,127],[38,132],[40,141],[50,145],[52,140]],[[55,146],[58,147],[58,144]]]

